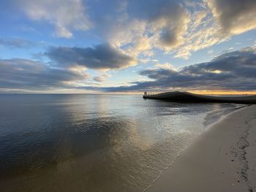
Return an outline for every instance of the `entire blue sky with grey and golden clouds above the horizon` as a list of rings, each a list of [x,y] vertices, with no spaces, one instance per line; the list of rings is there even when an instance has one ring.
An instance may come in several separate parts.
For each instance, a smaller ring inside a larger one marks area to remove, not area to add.
[[[0,93],[256,91],[255,0],[2,0]]]

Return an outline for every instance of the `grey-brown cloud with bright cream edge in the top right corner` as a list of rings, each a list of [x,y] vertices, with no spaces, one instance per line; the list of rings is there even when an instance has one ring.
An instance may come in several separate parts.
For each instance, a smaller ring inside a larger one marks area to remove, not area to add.
[[[255,0],[209,0],[208,6],[222,28],[221,33],[241,34],[256,28]]]

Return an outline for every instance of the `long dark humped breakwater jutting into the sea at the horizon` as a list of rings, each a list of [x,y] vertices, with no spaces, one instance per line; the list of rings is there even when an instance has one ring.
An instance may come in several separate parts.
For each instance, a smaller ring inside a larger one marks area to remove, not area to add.
[[[176,102],[219,102],[237,104],[256,104],[256,95],[230,94],[230,95],[200,95],[186,91],[172,91],[166,93],[147,94],[144,92],[144,99],[163,99]]]

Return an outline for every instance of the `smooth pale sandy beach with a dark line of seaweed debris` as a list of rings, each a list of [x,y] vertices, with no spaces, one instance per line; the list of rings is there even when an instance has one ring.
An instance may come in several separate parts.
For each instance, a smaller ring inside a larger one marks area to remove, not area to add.
[[[256,191],[256,105],[195,139],[146,191]]]

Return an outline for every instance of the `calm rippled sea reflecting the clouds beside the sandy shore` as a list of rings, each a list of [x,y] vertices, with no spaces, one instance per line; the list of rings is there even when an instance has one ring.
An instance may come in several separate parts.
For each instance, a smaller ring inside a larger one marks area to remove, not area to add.
[[[0,94],[1,191],[143,191],[206,124],[236,107]]]

